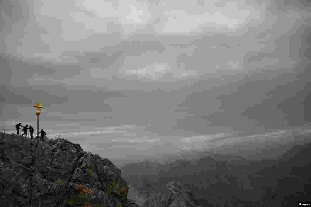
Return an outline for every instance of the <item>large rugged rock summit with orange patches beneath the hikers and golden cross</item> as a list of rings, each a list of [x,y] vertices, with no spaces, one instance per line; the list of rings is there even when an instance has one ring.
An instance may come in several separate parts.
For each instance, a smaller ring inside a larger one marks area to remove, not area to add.
[[[121,171],[66,139],[40,142],[0,132],[3,207],[136,207]]]

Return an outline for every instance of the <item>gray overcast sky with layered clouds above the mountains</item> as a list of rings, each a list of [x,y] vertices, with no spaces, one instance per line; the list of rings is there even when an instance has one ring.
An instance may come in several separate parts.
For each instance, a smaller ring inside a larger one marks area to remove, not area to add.
[[[36,126],[41,101],[50,137],[111,160],[299,128],[311,122],[310,6],[2,1],[0,126]]]

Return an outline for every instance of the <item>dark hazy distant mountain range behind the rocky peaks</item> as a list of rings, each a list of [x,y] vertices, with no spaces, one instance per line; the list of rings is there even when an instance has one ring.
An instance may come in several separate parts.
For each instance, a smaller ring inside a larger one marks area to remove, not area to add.
[[[236,156],[230,159],[231,155],[215,153],[213,157],[194,161],[129,164],[121,170],[123,177],[146,198],[152,196],[152,191],[165,191],[165,183],[175,180],[215,206],[290,206],[292,200],[308,200],[307,195],[311,193],[308,174],[311,163],[306,159],[310,155],[311,143],[308,143],[290,147],[277,159],[248,160]],[[131,168],[132,172],[136,170],[135,174],[127,171]],[[140,173],[144,171],[147,173]]]

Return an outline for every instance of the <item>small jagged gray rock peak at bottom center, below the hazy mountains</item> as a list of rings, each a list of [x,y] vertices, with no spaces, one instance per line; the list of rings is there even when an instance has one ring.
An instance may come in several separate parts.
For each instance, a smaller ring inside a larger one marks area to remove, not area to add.
[[[169,193],[159,193],[148,200],[141,207],[210,207],[206,200],[192,194],[183,184],[171,181],[167,184]]]

